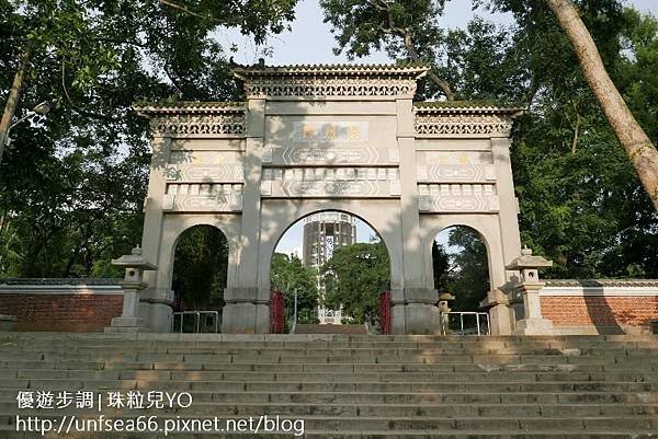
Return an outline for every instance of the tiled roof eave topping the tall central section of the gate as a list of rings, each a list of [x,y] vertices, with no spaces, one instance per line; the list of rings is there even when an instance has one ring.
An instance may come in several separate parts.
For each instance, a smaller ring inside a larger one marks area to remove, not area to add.
[[[234,76],[247,82],[262,77],[404,77],[420,79],[430,70],[430,66],[421,62],[409,63],[337,63],[337,65],[293,65],[293,66],[237,66]]]

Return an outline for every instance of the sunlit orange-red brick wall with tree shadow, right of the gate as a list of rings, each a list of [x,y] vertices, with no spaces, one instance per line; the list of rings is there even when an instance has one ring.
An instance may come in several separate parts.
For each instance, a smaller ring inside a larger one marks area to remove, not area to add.
[[[554,325],[648,325],[658,319],[658,297],[544,296],[542,314]]]

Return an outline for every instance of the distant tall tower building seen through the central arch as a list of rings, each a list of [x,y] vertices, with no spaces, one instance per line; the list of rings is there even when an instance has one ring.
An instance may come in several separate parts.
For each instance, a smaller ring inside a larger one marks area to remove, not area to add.
[[[333,255],[333,249],[352,245],[356,242],[354,217],[342,212],[320,212],[304,219],[304,265],[319,268]],[[318,291],[325,294],[325,281],[318,277]],[[318,307],[320,324],[340,324],[340,310]]]

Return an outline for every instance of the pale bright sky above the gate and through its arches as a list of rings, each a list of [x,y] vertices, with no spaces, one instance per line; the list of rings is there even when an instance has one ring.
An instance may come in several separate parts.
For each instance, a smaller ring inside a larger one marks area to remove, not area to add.
[[[658,0],[626,0],[626,4],[633,4],[636,9],[658,15]],[[441,19],[445,27],[464,27],[475,16],[481,16],[497,24],[511,24],[509,14],[489,14],[487,11],[472,10],[470,0],[452,0],[447,2],[444,16]],[[272,48],[271,56],[263,56],[259,49],[247,37],[239,32],[225,30],[217,35],[219,42],[229,47],[231,44],[238,46],[238,53],[234,59],[238,63],[251,65],[258,62],[259,58],[265,58],[268,65],[287,63],[333,63],[352,62],[344,55],[336,56],[332,48],[336,46],[331,26],[322,23],[324,14],[319,0],[302,0],[295,9],[295,21],[292,23],[292,32],[285,32],[270,38],[268,46]],[[390,62],[384,53],[371,54],[366,58],[359,58],[354,62]],[[291,227],[282,236],[276,252],[296,253],[302,256],[303,223],[298,221]],[[356,222],[356,241],[368,242],[371,235],[376,234],[365,222]],[[443,233],[439,242],[445,243],[447,234]]]

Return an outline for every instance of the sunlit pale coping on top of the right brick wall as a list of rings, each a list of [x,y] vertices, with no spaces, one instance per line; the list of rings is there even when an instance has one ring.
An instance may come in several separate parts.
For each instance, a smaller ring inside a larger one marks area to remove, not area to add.
[[[540,296],[658,297],[653,279],[549,279]]]

